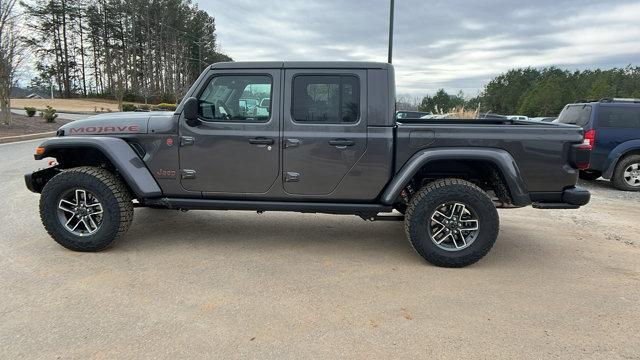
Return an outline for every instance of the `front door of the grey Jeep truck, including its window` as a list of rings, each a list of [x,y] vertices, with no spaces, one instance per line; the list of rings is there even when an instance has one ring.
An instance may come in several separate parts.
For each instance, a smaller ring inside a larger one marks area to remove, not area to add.
[[[195,96],[199,124],[180,119],[182,186],[262,194],[279,177],[281,70],[216,71]]]

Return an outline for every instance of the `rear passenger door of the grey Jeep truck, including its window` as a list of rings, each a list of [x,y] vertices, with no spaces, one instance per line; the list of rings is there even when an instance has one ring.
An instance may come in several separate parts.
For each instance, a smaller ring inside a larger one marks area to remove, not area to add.
[[[366,71],[287,69],[283,187],[329,195],[367,147]]]

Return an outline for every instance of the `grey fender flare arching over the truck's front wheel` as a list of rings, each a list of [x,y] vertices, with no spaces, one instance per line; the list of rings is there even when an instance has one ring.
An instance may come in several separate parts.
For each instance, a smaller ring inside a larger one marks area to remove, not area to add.
[[[36,160],[55,157],[60,149],[95,149],[100,151],[118,169],[126,183],[138,198],[152,198],[162,195],[162,190],[126,141],[114,137],[64,136],[51,138],[41,145],[44,152],[34,155]]]

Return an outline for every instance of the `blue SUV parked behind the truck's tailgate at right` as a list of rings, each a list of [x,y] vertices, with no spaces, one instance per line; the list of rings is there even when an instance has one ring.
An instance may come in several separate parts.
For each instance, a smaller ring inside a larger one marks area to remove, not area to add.
[[[620,190],[640,190],[640,99],[579,101],[565,106],[557,121],[585,131],[591,161],[581,179],[602,176]]]

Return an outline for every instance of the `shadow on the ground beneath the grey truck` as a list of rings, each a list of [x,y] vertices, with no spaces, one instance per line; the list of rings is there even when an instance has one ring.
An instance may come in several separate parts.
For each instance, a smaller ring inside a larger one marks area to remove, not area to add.
[[[414,252],[404,223],[367,222],[356,216],[250,211],[167,211],[137,209],[129,232],[114,251],[162,251],[197,248],[212,254],[246,251],[267,255],[282,250],[350,260],[427,263]],[[515,230],[517,231],[517,230]],[[503,232],[504,234],[504,232]],[[502,239],[500,239],[502,238]],[[484,266],[518,262],[512,240],[500,236]],[[522,239],[517,239],[522,241]],[[526,239],[524,240],[526,241]],[[505,252],[508,254],[506,255]],[[476,265],[477,266],[477,265]]]

